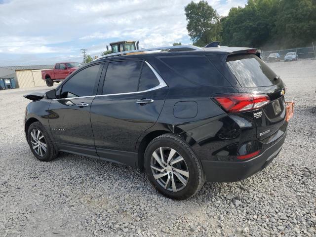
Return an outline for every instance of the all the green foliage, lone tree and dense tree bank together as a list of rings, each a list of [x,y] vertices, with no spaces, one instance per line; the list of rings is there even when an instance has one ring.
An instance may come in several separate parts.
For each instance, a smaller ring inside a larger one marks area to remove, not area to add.
[[[316,0],[248,0],[220,18],[205,1],[185,7],[189,36],[197,46],[269,48],[307,46],[316,40]]]

